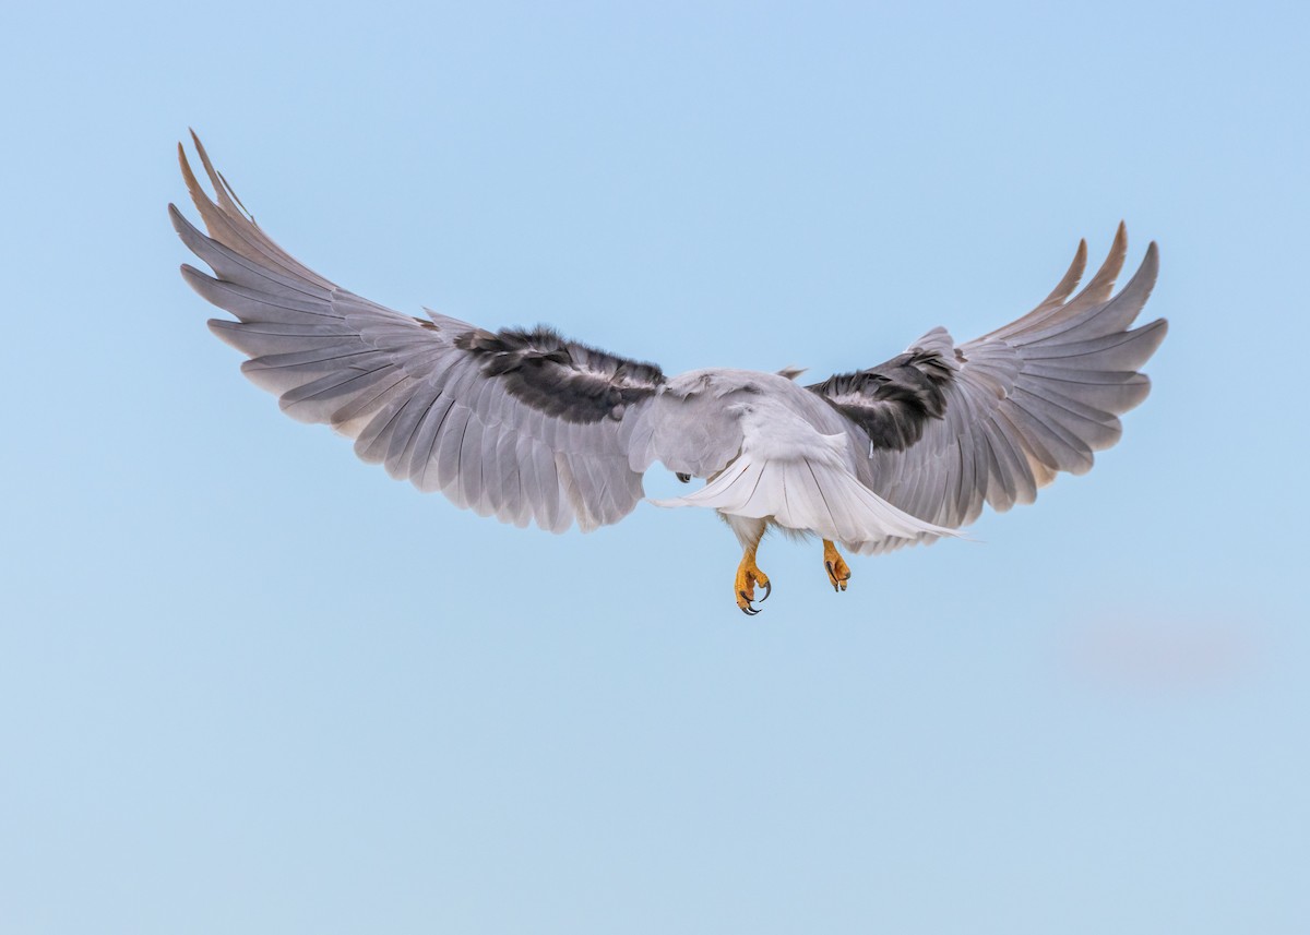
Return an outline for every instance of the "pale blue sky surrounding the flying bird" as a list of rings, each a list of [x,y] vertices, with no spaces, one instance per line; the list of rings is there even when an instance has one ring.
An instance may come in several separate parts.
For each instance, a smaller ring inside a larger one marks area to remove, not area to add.
[[[1303,10],[8,9],[0,931],[1310,931]],[[975,337],[1120,219],[1172,330],[1091,474],[747,619],[713,515],[282,416],[187,126],[346,287],[667,372]]]

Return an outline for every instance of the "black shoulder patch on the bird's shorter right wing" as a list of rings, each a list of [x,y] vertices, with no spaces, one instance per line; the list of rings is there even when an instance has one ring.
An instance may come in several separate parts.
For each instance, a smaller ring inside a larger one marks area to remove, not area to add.
[[[810,389],[854,422],[874,448],[905,450],[929,419],[946,415],[946,386],[955,367],[934,350],[913,348],[886,364],[838,373]]]

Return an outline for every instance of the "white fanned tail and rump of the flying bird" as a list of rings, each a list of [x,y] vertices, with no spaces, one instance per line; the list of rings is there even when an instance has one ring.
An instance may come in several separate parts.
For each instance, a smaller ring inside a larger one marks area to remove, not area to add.
[[[874,551],[887,540],[959,536],[897,509],[862,485],[848,435],[824,435],[768,397],[741,403],[739,411],[741,453],[701,490],[652,500],[655,505],[762,519],[857,553]]]

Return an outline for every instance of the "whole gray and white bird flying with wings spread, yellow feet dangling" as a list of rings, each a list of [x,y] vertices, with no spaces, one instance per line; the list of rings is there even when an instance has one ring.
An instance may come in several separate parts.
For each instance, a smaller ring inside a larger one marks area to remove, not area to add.
[[[656,462],[683,483],[703,481],[652,503],[727,522],[741,549],[734,600],[748,615],[762,609],[757,591],[760,605],[773,593],[757,564],[770,529],[820,540],[842,593],[841,549],[962,537],[984,505],[1032,503],[1058,474],[1090,470],[1150,392],[1140,369],[1169,327],[1133,327],[1159,268],[1154,242],[1115,292],[1120,223],[1082,291],[1085,240],[1051,295],[981,338],[958,343],[934,327],[884,363],[815,384],[794,367],[669,376],[548,326],[493,331],[363,299],[278,246],[191,140],[212,198],[181,143],[178,161],[206,232],[176,204],[169,215],[210,272],[185,263],[182,276],[234,317],[208,326],[282,411],[354,439],[363,461],[421,491],[553,533],[626,517]]]

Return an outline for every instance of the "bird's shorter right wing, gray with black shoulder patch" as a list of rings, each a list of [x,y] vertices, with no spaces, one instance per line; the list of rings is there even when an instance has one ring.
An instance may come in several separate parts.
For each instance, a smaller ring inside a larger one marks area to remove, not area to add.
[[[1114,295],[1127,249],[1120,224],[1106,262],[1073,299],[1086,242],[1018,321],[963,344],[938,327],[886,364],[811,386],[867,448],[863,479],[912,516],[958,528],[984,503],[1031,503],[1058,471],[1090,470],[1093,452],[1119,441],[1117,416],[1146,398],[1150,380],[1137,371],[1167,330],[1163,318],[1129,330],[1159,262],[1151,244]]]

